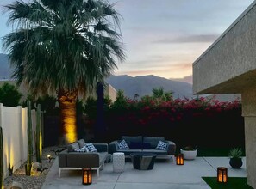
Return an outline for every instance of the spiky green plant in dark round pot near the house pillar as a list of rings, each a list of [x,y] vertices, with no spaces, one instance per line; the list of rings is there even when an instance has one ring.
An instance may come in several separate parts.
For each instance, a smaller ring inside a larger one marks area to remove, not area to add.
[[[242,149],[234,148],[229,151],[229,164],[232,168],[240,168],[243,165],[242,159]]]

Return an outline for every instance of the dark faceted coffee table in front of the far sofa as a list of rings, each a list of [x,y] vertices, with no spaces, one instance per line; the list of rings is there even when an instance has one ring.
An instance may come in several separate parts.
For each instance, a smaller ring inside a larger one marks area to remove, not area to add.
[[[139,170],[153,169],[154,160],[157,156],[156,154],[146,152],[137,152],[130,155],[134,168]]]

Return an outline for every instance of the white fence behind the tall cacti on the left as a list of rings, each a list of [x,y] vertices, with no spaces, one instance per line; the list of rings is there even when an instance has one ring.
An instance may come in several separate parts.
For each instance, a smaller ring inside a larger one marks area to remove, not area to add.
[[[0,103],[0,126],[3,128],[3,171],[8,176],[10,166],[15,171],[27,161],[27,107],[3,107]],[[32,110],[33,143],[35,135],[36,113]],[[33,146],[35,149],[35,143]]]

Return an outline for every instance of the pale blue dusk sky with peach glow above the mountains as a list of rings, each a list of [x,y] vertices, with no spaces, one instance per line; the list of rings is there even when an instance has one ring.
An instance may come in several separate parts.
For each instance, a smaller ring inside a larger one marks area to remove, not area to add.
[[[1,0],[3,5],[14,0]],[[23,0],[28,2],[28,0]],[[184,78],[253,0],[109,0],[122,15],[126,59],[115,75]],[[11,32],[0,15],[0,37]],[[3,49],[0,49],[3,53]]]

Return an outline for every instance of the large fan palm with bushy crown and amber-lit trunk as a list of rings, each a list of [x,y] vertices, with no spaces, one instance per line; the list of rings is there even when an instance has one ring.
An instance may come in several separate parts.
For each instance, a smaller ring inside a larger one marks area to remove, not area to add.
[[[120,15],[103,0],[16,1],[5,6],[16,30],[3,38],[13,77],[34,95],[57,93],[66,143],[77,139],[76,101],[125,57]]]

